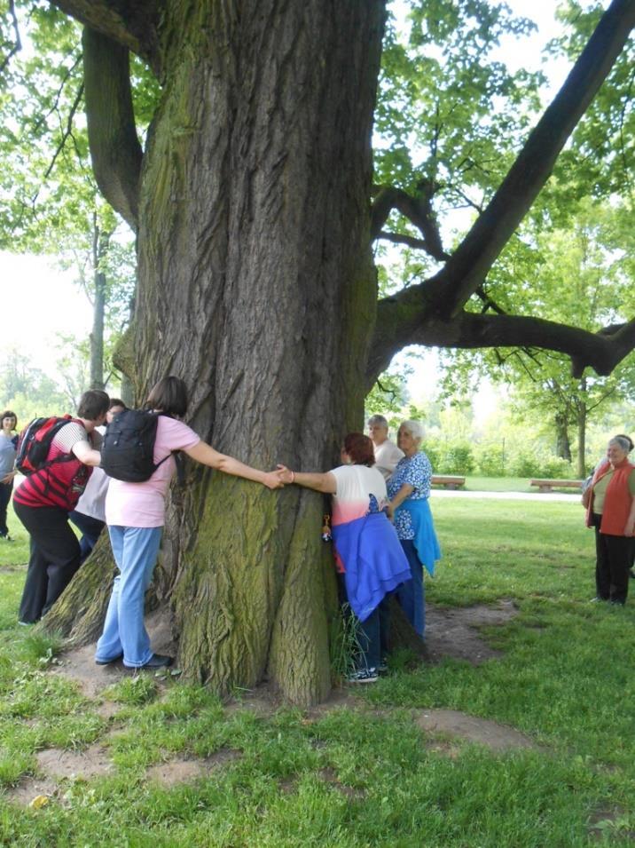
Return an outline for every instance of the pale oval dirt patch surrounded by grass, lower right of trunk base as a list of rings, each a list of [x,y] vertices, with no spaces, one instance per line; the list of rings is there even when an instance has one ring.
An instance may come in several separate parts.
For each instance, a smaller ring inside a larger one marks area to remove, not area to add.
[[[486,718],[468,716],[456,709],[422,709],[416,722],[427,733],[447,734],[460,739],[477,742],[494,751],[511,749],[540,750],[536,742],[513,727],[499,725]]]

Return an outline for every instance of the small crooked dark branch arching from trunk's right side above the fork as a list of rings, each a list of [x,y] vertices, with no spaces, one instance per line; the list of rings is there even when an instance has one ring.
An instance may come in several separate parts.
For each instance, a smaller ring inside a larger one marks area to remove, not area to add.
[[[382,227],[388,220],[388,215],[394,209],[401,212],[405,218],[412,221],[412,224],[419,229],[423,236],[422,240],[412,245],[414,247],[425,250],[429,256],[443,262],[448,258],[448,254],[443,250],[441,235],[439,228],[436,225],[435,213],[432,209],[432,198],[435,194],[435,186],[426,183],[419,186],[419,197],[412,197],[404,192],[401,188],[395,186],[380,186],[377,189],[375,201],[372,204],[371,211],[371,238],[386,239],[396,242],[397,234],[388,234],[382,232]],[[401,239],[410,238],[410,236],[400,236]],[[408,244],[409,242],[401,242]]]

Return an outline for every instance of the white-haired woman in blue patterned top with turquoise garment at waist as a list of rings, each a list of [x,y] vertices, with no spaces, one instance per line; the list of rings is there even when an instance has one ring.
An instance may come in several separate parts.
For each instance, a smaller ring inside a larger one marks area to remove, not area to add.
[[[435,560],[441,559],[427,499],[430,496],[432,466],[419,450],[423,428],[417,421],[404,421],[397,432],[397,445],[404,451],[392,477],[388,479],[388,514],[404,553],[408,558],[412,580],[403,583],[396,597],[414,630],[423,638],[426,626],[423,567],[435,573]]]

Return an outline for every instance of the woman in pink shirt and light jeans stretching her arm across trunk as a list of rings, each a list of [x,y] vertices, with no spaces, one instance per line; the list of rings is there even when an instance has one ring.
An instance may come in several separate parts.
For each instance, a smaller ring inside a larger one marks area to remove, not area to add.
[[[172,662],[172,657],[153,654],[144,626],[144,598],[161,543],[165,496],[176,469],[173,451],[182,450],[199,463],[271,489],[282,487],[277,472],[261,472],[219,454],[178,420],[187,410],[183,380],[164,377],[150,392],[147,405],[159,415],[153,457],[158,467],[143,483],[111,479],[106,495],[106,524],[120,574],[114,578],[104,632],[97,643],[98,665],[123,659],[131,669],[159,669]]]

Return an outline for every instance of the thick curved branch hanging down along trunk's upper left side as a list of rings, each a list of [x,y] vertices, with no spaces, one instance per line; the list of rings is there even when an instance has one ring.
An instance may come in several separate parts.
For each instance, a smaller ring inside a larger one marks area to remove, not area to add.
[[[100,191],[137,230],[143,153],[137,139],[127,47],[84,28],[82,36],[90,158]]]

